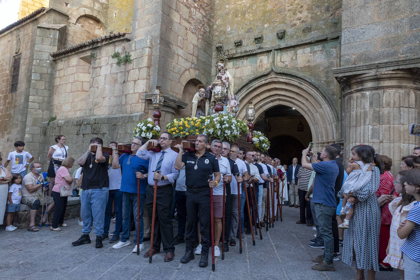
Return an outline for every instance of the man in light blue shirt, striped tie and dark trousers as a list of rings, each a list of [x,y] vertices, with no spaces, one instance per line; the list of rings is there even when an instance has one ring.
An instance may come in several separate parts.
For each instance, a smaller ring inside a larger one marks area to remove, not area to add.
[[[147,151],[147,147],[152,143],[153,146],[160,144],[160,152]],[[156,192],[156,212],[155,228],[153,233],[152,254],[160,252],[160,241],[165,251],[165,262],[170,262],[175,256],[175,246],[173,245],[173,227],[171,215],[171,203],[173,196],[172,184],[178,178],[179,171],[175,169],[175,160],[178,154],[171,149],[172,134],[163,132],[160,134],[159,141],[150,139],[137,151],[137,157],[149,160],[149,176],[147,176],[146,200],[147,212],[152,219],[153,196],[155,180],[157,180]],[[153,176],[152,176],[153,174]],[[151,221],[152,222],[152,221]],[[145,258],[150,256],[150,251],[144,254]]]

